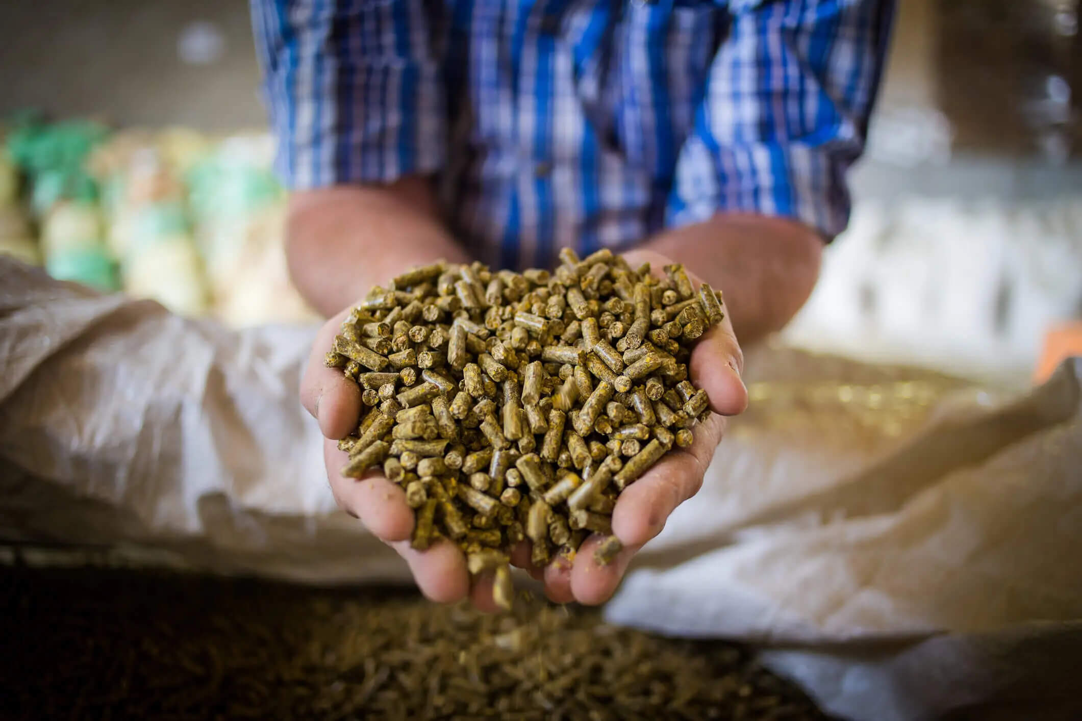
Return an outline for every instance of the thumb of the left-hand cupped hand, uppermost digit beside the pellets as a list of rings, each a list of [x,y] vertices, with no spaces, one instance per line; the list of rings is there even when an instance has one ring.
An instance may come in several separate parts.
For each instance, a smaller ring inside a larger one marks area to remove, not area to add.
[[[333,439],[348,436],[360,416],[360,388],[341,369],[324,364],[347,313],[343,310],[319,329],[301,378],[301,404],[319,422],[320,432]]]

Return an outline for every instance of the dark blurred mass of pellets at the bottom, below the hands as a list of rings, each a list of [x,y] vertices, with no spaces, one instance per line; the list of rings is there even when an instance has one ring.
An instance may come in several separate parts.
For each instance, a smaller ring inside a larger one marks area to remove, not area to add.
[[[0,603],[5,719],[826,718],[741,646],[540,600],[9,566]]]

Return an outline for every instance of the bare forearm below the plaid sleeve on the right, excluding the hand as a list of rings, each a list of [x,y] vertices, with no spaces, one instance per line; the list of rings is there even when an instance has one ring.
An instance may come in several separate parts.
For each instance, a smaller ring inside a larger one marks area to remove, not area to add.
[[[822,240],[793,221],[715,215],[662,232],[644,249],[686,265],[725,295],[741,344],[781,330],[819,277]]]

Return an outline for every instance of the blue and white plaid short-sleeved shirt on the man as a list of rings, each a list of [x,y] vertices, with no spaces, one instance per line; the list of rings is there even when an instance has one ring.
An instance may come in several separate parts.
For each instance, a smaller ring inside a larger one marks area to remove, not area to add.
[[[500,267],[717,212],[846,225],[890,0],[251,0],[291,188],[439,179]]]

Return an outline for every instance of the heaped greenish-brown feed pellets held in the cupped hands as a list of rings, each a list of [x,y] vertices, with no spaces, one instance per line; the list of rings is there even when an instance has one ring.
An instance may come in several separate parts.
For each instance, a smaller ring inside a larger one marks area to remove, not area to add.
[[[409,270],[352,309],[326,359],[364,389],[342,475],[382,465],[414,509],[413,547],[457,543],[503,607],[525,538],[544,566],[604,534],[595,559],[611,561],[617,496],[710,413],[687,360],[721,294],[679,265],[661,279],[607,249],[559,257],[553,273]]]

